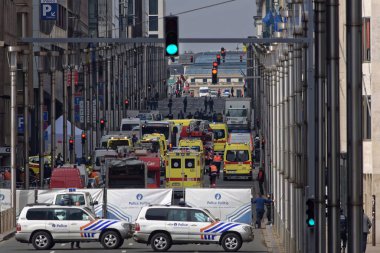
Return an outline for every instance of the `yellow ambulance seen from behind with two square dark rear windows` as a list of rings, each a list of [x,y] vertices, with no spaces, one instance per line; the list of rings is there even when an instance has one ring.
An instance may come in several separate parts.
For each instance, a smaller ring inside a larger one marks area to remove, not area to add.
[[[203,187],[202,154],[184,147],[173,148],[166,156],[166,188]]]

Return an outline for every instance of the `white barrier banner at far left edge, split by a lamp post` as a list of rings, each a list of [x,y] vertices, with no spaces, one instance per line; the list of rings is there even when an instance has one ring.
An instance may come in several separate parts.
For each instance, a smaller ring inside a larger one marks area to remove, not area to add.
[[[0,211],[5,211],[12,207],[11,190],[0,189]],[[34,203],[34,190],[17,190],[16,191],[16,215],[30,203]]]

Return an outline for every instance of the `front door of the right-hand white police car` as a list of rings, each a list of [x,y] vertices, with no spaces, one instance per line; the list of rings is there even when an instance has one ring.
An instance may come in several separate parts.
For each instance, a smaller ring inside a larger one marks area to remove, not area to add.
[[[213,231],[221,225],[211,219],[202,210],[188,210],[189,211],[189,240],[193,242],[207,242],[216,240]]]

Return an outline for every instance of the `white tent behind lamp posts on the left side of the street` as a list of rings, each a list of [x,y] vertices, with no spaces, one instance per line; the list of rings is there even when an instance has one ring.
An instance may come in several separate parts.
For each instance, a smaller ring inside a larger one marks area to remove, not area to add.
[[[82,157],[82,135],[83,130],[75,127],[75,154],[76,157]],[[69,141],[69,138],[71,136],[71,122],[67,121],[67,141]],[[49,151],[51,149],[51,125],[49,125],[45,129],[45,152]],[[55,121],[55,140],[57,143],[57,151],[56,154],[58,153],[63,153],[63,116],[59,117]],[[67,144],[67,152],[69,145]]]

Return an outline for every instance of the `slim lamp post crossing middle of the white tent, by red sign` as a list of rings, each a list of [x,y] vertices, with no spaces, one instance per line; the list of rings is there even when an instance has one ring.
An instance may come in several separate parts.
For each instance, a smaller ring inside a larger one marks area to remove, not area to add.
[[[68,118],[68,94],[67,86],[70,81],[71,83],[71,74],[70,74],[70,51],[65,50],[62,57],[62,67],[63,67],[63,162],[67,161],[67,118]],[[68,78],[70,76],[70,78]]]

